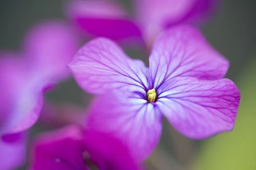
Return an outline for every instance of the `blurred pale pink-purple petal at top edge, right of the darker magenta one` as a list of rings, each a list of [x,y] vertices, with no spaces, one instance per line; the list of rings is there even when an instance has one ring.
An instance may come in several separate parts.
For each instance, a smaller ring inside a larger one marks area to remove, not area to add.
[[[154,42],[167,23],[178,22],[193,8],[196,0],[135,0],[137,20],[148,43]]]

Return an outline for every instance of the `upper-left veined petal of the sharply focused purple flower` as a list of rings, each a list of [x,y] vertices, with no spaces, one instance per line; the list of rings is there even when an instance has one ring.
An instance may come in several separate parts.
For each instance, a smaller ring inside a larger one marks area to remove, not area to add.
[[[81,88],[94,94],[124,88],[145,93],[148,86],[145,64],[129,58],[107,38],[95,38],[81,47],[69,67]]]

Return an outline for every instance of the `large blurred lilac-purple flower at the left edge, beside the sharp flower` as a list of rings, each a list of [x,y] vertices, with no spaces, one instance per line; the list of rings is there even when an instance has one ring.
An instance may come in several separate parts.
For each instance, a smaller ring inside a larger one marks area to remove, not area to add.
[[[19,57],[1,54],[0,135],[20,133],[35,124],[44,90],[67,78],[66,65],[77,47],[72,30],[54,21],[29,31]]]

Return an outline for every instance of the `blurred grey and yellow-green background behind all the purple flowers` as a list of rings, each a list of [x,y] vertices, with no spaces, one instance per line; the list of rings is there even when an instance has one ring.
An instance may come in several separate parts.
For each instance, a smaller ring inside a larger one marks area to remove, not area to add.
[[[65,0],[0,0],[0,49],[18,50],[26,31],[34,24],[67,20]],[[120,0],[131,10],[131,0]],[[256,170],[256,1],[223,0],[213,19],[201,30],[209,42],[230,61],[226,78],[236,83],[241,103],[235,128],[204,141],[178,134],[164,120],[159,146],[147,160],[152,170]],[[140,51],[127,51],[143,58]],[[86,107],[92,96],[74,80],[60,84],[47,95],[60,104]],[[36,125],[32,133],[43,127]],[[139,141],[138,141],[139,142]],[[0,151],[1,152],[1,151]]]

